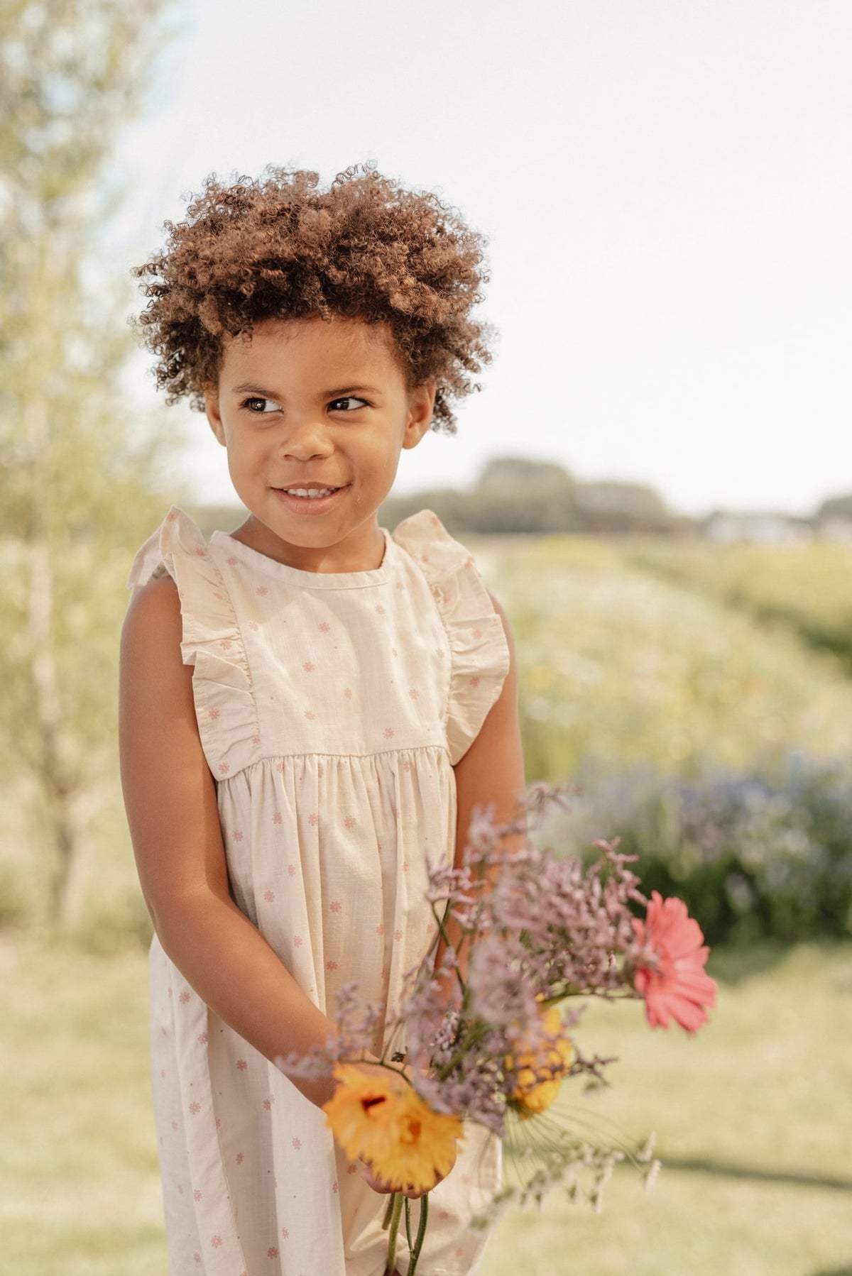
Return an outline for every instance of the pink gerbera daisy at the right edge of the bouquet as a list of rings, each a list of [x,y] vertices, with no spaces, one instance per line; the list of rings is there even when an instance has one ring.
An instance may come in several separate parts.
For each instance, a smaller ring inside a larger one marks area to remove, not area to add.
[[[667,1028],[671,1016],[687,1032],[696,1032],[706,1023],[705,1007],[715,1005],[717,993],[715,980],[704,970],[709,949],[697,921],[682,900],[663,900],[653,891],[645,921],[635,917],[634,930],[657,958],[634,972],[649,1025]]]

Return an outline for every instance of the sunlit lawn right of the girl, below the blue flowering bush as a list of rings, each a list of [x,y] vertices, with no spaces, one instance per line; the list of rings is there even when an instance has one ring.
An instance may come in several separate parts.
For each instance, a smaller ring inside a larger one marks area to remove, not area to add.
[[[852,1276],[852,947],[752,961],[717,961],[695,1039],[650,1032],[639,1005],[593,1007],[582,1040],[621,1062],[582,1118],[654,1129],[664,1169],[645,1196],[620,1168],[600,1215],[558,1194],[512,1215],[483,1276]]]

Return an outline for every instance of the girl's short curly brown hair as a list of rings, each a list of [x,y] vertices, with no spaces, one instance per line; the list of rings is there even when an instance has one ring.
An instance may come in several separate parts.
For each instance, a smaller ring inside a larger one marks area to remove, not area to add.
[[[372,165],[323,189],[316,172],[268,167],[255,181],[208,177],[161,253],[134,269],[148,305],[143,343],[167,402],[203,406],[227,338],[263,319],[308,315],[387,324],[409,385],[434,379],[433,429],[479,385],[491,330],[470,318],[487,282],[484,240],[432,194]]]

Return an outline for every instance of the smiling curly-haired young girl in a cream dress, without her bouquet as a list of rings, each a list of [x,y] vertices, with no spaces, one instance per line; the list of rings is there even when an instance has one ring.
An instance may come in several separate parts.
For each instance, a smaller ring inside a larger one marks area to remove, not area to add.
[[[138,271],[147,343],[249,512],[206,544],[172,509],[123,638],[171,1272],[382,1276],[406,1185],[336,1147],[332,1079],[272,1060],[327,1040],[345,984],[395,1005],[436,946],[427,857],[452,861],[473,809],[507,817],[522,790],[502,614],[433,514],[392,537],[377,519],[401,449],[453,429],[487,359],[482,241],[372,170],[209,180],[169,232]],[[497,1182],[468,1128],[423,1276],[475,1271]]]

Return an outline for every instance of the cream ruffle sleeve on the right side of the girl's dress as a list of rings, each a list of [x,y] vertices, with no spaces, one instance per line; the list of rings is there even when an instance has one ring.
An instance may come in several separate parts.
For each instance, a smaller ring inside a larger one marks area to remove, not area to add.
[[[479,735],[508,674],[503,623],[470,553],[453,541],[432,510],[406,518],[393,541],[423,572],[450,642],[446,731],[455,766]]]

